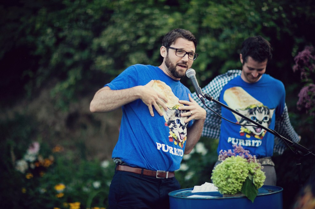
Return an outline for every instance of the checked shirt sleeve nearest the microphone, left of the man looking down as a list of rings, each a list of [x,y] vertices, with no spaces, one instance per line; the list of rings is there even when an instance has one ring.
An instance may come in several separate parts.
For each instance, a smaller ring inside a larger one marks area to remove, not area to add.
[[[201,90],[204,94],[212,96],[215,100],[219,100],[219,96],[223,87],[233,78],[241,74],[240,70],[229,70],[228,72],[215,77],[208,85],[203,87]],[[192,98],[197,101],[197,103],[207,111],[206,120],[204,122],[202,136],[214,139],[219,139],[220,127],[221,127],[221,117],[216,115],[213,111],[221,115],[221,106],[213,101],[205,100],[206,106],[204,107],[196,93],[192,94]]]

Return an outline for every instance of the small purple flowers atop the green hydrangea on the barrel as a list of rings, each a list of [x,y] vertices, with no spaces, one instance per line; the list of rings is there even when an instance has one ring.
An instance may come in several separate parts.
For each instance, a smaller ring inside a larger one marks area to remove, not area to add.
[[[229,158],[231,156],[240,156],[242,158],[245,158],[247,159],[247,162],[256,162],[256,156],[252,156],[251,154],[249,154],[249,151],[248,150],[245,150],[241,145],[233,145],[233,152],[231,149],[229,150],[221,150],[220,153],[219,153],[219,160],[223,161],[225,160],[226,158]]]

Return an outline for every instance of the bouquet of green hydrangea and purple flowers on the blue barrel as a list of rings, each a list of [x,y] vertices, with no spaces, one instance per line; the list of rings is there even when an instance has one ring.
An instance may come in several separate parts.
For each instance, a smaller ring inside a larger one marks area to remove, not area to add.
[[[254,202],[258,189],[264,184],[265,173],[256,156],[249,154],[242,146],[233,145],[232,150],[219,153],[222,161],[212,171],[211,179],[223,195],[246,196]]]

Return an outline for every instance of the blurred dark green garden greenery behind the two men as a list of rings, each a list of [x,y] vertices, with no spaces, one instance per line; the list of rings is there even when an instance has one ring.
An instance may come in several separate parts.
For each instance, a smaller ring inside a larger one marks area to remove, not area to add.
[[[158,66],[163,35],[174,28],[188,29],[198,39],[193,68],[201,87],[229,69],[241,69],[239,49],[245,38],[262,35],[269,40],[273,59],[267,73],[284,83],[291,122],[301,135],[301,145],[313,151],[314,116],[297,110],[305,81],[292,67],[298,52],[315,44],[314,8],[313,0],[2,2],[0,205],[108,207],[111,152],[121,111],[92,114],[89,102],[126,67]],[[189,79],[181,81],[193,91]],[[40,143],[37,157],[52,157],[51,165],[40,171],[17,171],[16,163],[32,142]],[[200,142],[176,172],[182,188],[210,181],[217,140]],[[301,159],[302,184],[314,173],[312,159]],[[277,185],[284,188],[284,208],[290,208],[300,190],[295,154],[287,150],[274,161]],[[104,162],[109,164],[101,166]],[[65,189],[54,189],[56,185]]]

